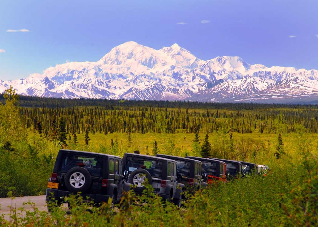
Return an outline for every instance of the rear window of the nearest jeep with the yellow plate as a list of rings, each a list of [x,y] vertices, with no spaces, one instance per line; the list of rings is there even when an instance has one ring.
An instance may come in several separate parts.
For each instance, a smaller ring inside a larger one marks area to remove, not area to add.
[[[62,155],[60,171],[67,172],[73,167],[83,167],[91,175],[102,175],[103,159],[86,155],[64,154]]]

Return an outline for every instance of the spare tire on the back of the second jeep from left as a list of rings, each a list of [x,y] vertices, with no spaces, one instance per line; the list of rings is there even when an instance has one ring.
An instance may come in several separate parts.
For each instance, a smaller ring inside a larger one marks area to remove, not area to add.
[[[128,177],[128,182],[133,184],[136,192],[142,192],[145,187],[145,179],[148,179],[148,183],[152,184],[152,177],[146,169],[135,169]]]

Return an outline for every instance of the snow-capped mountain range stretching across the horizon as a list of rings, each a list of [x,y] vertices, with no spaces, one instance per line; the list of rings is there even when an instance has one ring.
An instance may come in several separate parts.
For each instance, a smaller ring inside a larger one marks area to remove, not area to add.
[[[97,62],[69,62],[28,78],[0,80],[0,92],[40,97],[288,102],[318,96],[318,71],[250,65],[240,57],[204,61],[177,44],[160,50],[130,41]]]

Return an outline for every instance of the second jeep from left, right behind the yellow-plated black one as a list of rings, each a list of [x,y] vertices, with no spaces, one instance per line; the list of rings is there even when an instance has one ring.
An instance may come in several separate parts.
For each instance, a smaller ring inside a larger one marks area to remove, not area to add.
[[[164,200],[181,206],[183,184],[177,182],[176,161],[149,155],[125,153],[124,171],[129,183],[135,185],[136,194],[145,189],[145,179],[154,188],[154,192]]]

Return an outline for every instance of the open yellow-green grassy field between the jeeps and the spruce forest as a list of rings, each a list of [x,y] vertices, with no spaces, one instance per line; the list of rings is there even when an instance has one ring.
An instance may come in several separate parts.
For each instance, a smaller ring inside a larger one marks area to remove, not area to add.
[[[209,141],[211,146],[213,147],[218,143],[219,135],[217,133],[208,134]],[[205,134],[199,133],[201,142],[204,139]],[[264,155],[273,156],[273,153],[276,149],[277,138],[278,134],[261,134],[261,133],[251,133],[251,134],[240,134],[240,133],[233,133],[233,140],[234,143],[239,141],[240,139],[247,139],[252,138],[254,140],[263,141],[265,144]],[[91,151],[98,151],[100,145],[103,146],[110,146],[111,139],[118,140],[119,146],[121,145],[122,152],[133,152],[134,150],[140,150],[142,154],[145,154],[146,146],[149,147],[149,153],[152,154],[152,148],[154,141],[157,141],[159,151],[163,151],[163,141],[167,142],[171,140],[176,148],[180,148],[182,151],[182,155],[185,153],[190,154],[192,150],[192,143],[194,139],[194,134],[185,134],[185,133],[177,133],[177,134],[156,134],[156,133],[147,133],[147,134],[138,134],[132,133],[132,146],[131,148],[127,147],[127,134],[126,133],[113,133],[113,134],[89,134],[90,141],[89,141],[89,150]],[[230,137],[230,134],[226,134],[225,137]],[[296,133],[289,133],[283,134],[283,142],[284,142],[284,149],[288,155],[293,157],[297,157],[299,152],[297,144],[301,142],[301,140],[310,140],[312,143],[313,152],[316,153],[316,148],[318,146],[318,134],[306,134],[304,138],[300,138],[299,134]],[[78,134],[78,141],[81,148],[85,149],[85,142],[84,142],[84,134]],[[121,152],[121,153],[122,153]],[[266,154],[268,153],[268,154]],[[262,160],[262,161],[266,161]],[[264,163],[266,164],[266,163]]]

